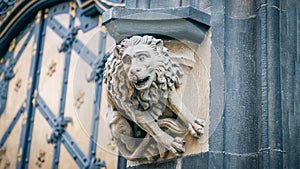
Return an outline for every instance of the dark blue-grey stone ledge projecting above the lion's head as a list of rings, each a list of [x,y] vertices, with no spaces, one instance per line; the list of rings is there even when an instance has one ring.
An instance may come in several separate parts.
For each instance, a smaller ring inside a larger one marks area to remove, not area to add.
[[[210,15],[193,7],[111,8],[103,13],[103,25],[117,42],[133,35],[147,34],[199,44],[210,27]]]

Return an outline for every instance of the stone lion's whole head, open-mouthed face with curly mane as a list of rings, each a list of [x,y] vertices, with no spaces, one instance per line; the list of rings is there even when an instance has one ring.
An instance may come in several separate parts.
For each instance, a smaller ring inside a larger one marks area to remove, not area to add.
[[[115,47],[107,60],[104,82],[114,106],[147,110],[181,84],[183,71],[171,60],[161,39],[133,36]]]

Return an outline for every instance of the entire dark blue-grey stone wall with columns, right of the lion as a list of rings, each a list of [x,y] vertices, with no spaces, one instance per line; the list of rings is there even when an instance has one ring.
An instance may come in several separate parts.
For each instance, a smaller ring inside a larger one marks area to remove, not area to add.
[[[212,32],[209,152],[184,157],[178,168],[299,168],[299,3],[206,3]]]

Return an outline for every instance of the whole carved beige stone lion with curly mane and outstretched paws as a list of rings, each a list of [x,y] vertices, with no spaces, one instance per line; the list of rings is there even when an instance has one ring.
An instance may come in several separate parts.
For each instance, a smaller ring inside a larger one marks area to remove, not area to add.
[[[171,60],[163,41],[133,36],[115,47],[105,65],[112,136],[129,160],[180,156],[184,137],[204,133],[197,119],[177,94],[183,71]]]

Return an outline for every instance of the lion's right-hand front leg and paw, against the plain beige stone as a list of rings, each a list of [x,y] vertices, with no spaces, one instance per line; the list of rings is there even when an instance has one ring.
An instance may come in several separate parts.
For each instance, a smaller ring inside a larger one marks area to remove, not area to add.
[[[175,89],[170,90],[168,107],[185,123],[192,136],[199,138],[204,134],[205,121],[196,118],[184,105]]]

